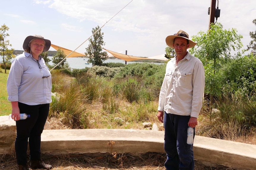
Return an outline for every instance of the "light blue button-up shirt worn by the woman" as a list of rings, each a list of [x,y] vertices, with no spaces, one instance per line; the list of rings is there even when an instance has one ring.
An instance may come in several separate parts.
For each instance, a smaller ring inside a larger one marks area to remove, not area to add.
[[[51,74],[42,56],[37,61],[23,52],[13,59],[7,79],[8,101],[27,105],[50,103],[51,89]]]

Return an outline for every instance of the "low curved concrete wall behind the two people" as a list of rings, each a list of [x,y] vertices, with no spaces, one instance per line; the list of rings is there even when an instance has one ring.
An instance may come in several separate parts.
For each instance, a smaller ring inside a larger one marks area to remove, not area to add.
[[[16,127],[8,116],[0,116],[0,154],[14,152]],[[164,132],[140,129],[44,130],[43,154],[112,154],[164,151]],[[256,145],[195,136],[195,159],[208,166],[256,170]]]

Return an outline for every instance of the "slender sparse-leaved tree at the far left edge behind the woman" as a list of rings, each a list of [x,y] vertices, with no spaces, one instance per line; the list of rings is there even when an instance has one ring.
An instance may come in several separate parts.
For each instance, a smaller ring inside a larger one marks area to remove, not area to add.
[[[5,73],[6,63],[10,62],[10,60],[15,57],[15,55],[12,54],[14,49],[8,49],[8,46],[12,46],[12,44],[10,44],[10,41],[6,39],[9,36],[9,34],[7,33],[8,30],[9,27],[7,27],[5,24],[2,25],[0,28],[0,55],[3,58]]]

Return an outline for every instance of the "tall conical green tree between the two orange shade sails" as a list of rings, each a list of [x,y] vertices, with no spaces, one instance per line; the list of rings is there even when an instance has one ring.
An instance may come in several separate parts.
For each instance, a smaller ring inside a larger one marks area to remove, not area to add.
[[[99,30],[97,33],[95,33]],[[92,33],[95,33],[92,38],[89,39],[89,46],[86,48],[86,55],[89,56],[88,63],[92,63],[92,66],[102,66],[103,61],[108,59],[108,54],[106,51],[102,52],[102,46],[105,45],[103,41],[103,33],[99,29],[99,25],[92,28]]]

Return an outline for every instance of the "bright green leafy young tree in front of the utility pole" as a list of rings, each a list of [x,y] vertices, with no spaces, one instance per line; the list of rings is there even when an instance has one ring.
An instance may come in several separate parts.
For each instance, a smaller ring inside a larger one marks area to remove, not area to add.
[[[224,67],[230,59],[241,56],[239,50],[242,48],[242,35],[237,34],[237,30],[223,29],[220,23],[211,24],[211,30],[200,31],[192,36],[192,40],[197,42],[197,46],[189,51],[192,55],[199,58],[205,68],[205,93],[210,97],[220,97],[223,86],[221,67]],[[231,52],[238,51],[234,56]]]

